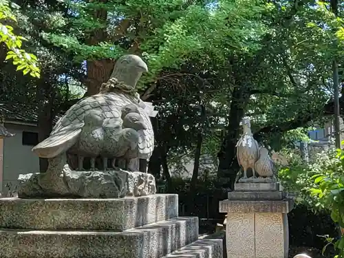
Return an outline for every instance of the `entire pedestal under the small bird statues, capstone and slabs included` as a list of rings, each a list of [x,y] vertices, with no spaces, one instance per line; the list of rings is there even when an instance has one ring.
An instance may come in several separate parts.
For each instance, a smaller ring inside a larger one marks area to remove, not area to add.
[[[219,212],[227,213],[227,257],[287,258],[292,205],[278,183],[235,184],[228,200],[219,202]]]

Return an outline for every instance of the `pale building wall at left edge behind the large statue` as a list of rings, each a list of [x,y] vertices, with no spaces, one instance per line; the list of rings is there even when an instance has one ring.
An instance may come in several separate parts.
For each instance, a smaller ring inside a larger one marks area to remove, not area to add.
[[[2,193],[7,192],[7,183],[17,184],[19,174],[39,172],[39,158],[31,151],[33,146],[22,144],[22,132],[37,132],[36,127],[12,124],[6,124],[5,127],[16,135],[3,140]]]

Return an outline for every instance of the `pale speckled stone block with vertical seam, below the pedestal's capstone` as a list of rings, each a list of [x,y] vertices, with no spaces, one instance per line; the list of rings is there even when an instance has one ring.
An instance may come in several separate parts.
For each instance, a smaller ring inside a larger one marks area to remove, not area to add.
[[[287,258],[286,213],[228,213],[228,258]]]

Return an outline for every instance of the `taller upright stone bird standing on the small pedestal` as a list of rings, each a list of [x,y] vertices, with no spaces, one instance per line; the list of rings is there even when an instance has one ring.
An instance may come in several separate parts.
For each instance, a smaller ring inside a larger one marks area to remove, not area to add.
[[[252,131],[250,129],[250,120],[244,118],[242,121],[243,134],[237,142],[237,161],[239,165],[244,169],[244,177],[247,179],[247,169],[252,169],[252,178],[255,178],[255,162],[259,158],[259,145],[253,138]]]

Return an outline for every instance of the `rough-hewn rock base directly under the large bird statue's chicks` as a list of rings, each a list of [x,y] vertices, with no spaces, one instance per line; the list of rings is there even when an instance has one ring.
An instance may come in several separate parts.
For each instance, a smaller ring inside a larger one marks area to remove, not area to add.
[[[118,198],[156,193],[149,173],[116,171],[72,171],[66,164],[61,173],[19,175],[18,196]]]

